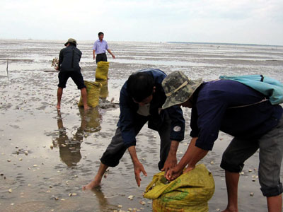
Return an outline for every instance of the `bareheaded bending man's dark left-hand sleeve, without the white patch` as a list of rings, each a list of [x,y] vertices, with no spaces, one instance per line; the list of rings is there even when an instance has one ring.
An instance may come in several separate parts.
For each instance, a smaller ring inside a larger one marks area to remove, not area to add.
[[[122,134],[122,139],[125,146],[129,148],[130,146],[136,146],[136,134],[134,131],[134,114],[130,108],[129,96],[125,87],[121,89],[120,92],[120,129]]]

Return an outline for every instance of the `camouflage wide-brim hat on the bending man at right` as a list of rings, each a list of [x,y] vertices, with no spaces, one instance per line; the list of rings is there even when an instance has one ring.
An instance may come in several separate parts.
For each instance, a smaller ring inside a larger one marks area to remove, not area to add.
[[[182,71],[173,71],[163,81],[166,101],[162,109],[186,102],[202,84],[202,78],[191,80]]]

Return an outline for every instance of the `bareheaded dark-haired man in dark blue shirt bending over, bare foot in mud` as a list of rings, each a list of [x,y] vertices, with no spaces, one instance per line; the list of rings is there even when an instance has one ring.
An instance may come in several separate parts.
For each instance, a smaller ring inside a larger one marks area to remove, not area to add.
[[[148,122],[150,129],[158,131],[161,139],[159,170],[168,171],[177,163],[176,151],[184,139],[185,120],[178,106],[161,110],[166,95],[161,86],[166,74],[159,69],[144,69],[129,76],[120,91],[120,119],[115,136],[100,158],[98,173],[89,184],[83,187],[93,189],[100,185],[108,167],[115,167],[125,151],[129,151],[134,164],[134,175],[140,186],[140,172],[146,175],[136,153],[136,136]]]

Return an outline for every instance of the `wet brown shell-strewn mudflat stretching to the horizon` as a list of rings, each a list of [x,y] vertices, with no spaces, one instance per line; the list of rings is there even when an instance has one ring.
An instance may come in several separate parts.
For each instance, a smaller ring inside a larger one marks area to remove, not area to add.
[[[115,133],[119,116],[115,103],[119,102],[122,84],[134,71],[181,70],[190,78],[202,77],[205,81],[221,74],[263,74],[283,81],[283,47],[109,42],[117,59],[108,57],[110,79],[103,87],[100,106],[87,112],[80,110],[79,90],[69,79],[62,110],[57,112],[54,105],[58,79],[51,63],[63,44],[0,40],[1,211],[151,211],[151,201],[144,199],[142,192],[158,172],[159,139],[146,126],[137,136],[137,154],[148,174],[142,177],[141,187],[136,185],[129,153],[125,153],[120,164],[107,172],[100,189],[81,191],[94,177],[99,159]],[[95,81],[92,42],[81,41],[78,47],[83,52],[83,77]],[[179,146],[179,159],[190,143],[190,110],[183,111],[186,133]],[[216,184],[209,211],[226,206],[224,171],[219,163],[230,140],[220,132],[214,150],[202,160]],[[258,184],[258,153],[246,162],[238,195],[240,211],[267,211]]]

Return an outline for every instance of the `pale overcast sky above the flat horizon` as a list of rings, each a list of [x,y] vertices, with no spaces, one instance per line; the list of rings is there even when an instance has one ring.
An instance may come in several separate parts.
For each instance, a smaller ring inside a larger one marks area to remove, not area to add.
[[[283,45],[282,0],[0,0],[0,38]]]

